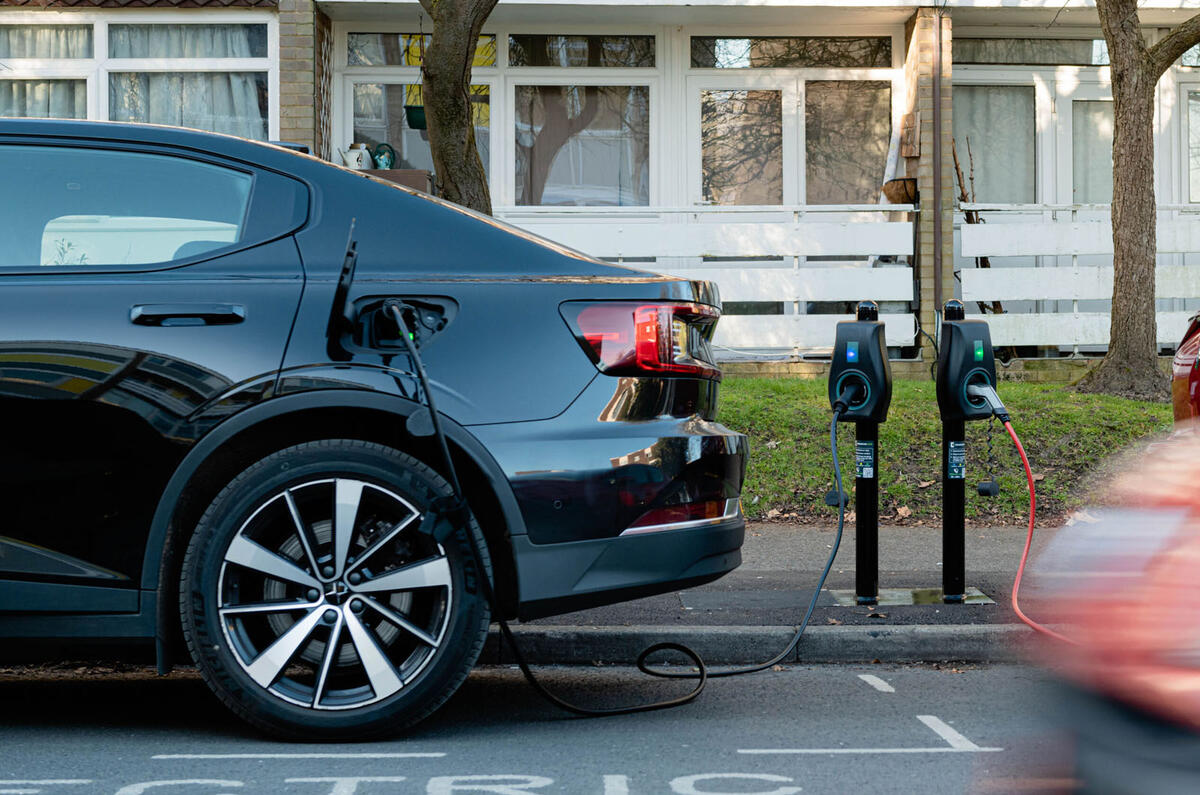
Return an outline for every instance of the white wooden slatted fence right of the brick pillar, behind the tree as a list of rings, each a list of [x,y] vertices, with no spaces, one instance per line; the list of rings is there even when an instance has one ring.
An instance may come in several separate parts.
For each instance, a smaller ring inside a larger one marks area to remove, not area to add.
[[[985,221],[959,228],[962,257],[1038,257],[1045,267],[962,268],[962,300],[1069,300],[1069,312],[989,315],[996,345],[1108,345],[1108,312],[1081,312],[1079,301],[1112,298],[1111,265],[1080,264],[1080,257],[1112,255],[1109,205],[1088,204],[964,204]],[[1159,255],[1200,252],[1200,207],[1160,205]],[[1051,258],[1052,259],[1048,259]],[[1159,258],[1160,262],[1163,257]],[[1180,263],[1183,257],[1171,257]],[[1158,298],[1200,298],[1200,265],[1159,264],[1154,277]],[[1158,312],[1158,341],[1175,345],[1194,310]]]

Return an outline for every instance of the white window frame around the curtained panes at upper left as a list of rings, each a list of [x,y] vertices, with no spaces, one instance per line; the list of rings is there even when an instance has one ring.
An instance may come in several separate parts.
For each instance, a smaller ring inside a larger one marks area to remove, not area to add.
[[[265,58],[109,58],[108,26],[265,24]],[[2,61],[0,80],[84,79],[88,83],[88,119],[108,120],[110,72],[265,72],[268,137],[280,137],[280,25],[270,11],[212,11],[163,8],[148,11],[6,11],[0,25],[91,25],[92,56],[72,59],[10,58]]]

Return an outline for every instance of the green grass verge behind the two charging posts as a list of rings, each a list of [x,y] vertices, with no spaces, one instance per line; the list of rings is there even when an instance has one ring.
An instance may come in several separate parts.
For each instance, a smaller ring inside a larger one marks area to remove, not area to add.
[[[1013,414],[1038,479],[1038,524],[1061,524],[1085,504],[1088,488],[1111,454],[1171,426],[1171,407],[1062,385],[1004,382],[1001,398]],[[833,486],[829,400],[826,382],[799,378],[726,378],[719,419],[750,436],[743,489],[749,516],[828,521],[824,495]],[[967,424],[967,519],[978,524],[1027,521],[1025,472],[1004,426],[992,429],[995,465],[988,464],[988,423]],[[888,524],[941,521],[942,431],[931,381],[894,383],[888,422],[880,426],[880,518]],[[839,429],[842,483],[853,495],[853,425]],[[1000,496],[974,486],[989,471]]]

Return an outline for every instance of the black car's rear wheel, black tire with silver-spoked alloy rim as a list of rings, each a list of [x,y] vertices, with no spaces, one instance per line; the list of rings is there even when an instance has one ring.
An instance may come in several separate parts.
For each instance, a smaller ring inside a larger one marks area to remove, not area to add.
[[[450,494],[410,455],[354,440],[298,444],[234,478],[197,525],[180,582],[204,681],[289,740],[378,737],[437,710],[490,623],[466,532],[440,546],[418,532]],[[491,576],[474,520],[470,532]]]

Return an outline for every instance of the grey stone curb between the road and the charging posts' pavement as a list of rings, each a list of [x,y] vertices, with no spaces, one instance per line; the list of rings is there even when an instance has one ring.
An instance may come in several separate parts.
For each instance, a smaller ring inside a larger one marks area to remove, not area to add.
[[[650,644],[671,641],[696,650],[709,665],[758,663],[778,654],[794,627],[514,627],[535,665],[632,665]],[[1022,624],[898,624],[809,627],[784,663],[1012,663],[1032,632]],[[674,659],[682,659],[678,654]],[[670,658],[668,658],[670,659]],[[492,629],[481,664],[511,665],[512,651]]]

